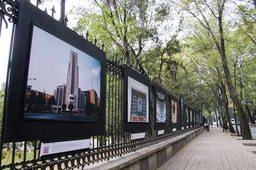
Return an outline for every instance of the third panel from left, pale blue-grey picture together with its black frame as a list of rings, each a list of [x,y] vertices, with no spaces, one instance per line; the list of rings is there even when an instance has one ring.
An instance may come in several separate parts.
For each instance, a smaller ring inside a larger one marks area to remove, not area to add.
[[[164,130],[166,128],[166,109],[167,103],[166,99],[168,95],[166,94],[165,90],[163,90],[158,85],[154,85],[154,92],[155,92],[155,101],[154,101],[154,108],[155,108],[155,118],[156,118],[156,130]]]

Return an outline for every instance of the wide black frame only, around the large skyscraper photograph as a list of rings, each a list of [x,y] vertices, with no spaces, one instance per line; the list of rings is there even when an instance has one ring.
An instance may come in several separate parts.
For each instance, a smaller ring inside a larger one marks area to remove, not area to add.
[[[67,140],[104,133],[106,96],[105,52],[59,21],[33,6],[19,1],[10,79],[4,121],[4,142],[24,140]],[[63,122],[24,119],[24,99],[27,86],[32,26],[78,48],[101,62],[100,115],[97,123]]]

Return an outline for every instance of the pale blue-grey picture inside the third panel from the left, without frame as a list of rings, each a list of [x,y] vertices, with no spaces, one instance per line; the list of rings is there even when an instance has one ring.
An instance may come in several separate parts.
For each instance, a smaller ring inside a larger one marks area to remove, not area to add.
[[[156,91],[156,122],[166,123],[166,96]]]

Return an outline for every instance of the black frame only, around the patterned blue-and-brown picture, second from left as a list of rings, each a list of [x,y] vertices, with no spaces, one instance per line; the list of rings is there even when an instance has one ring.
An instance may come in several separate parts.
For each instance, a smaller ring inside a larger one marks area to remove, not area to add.
[[[143,85],[148,87],[148,122],[128,122],[128,76],[133,78],[134,80],[142,83]],[[151,121],[151,82],[140,75],[137,71],[135,71],[130,66],[123,64],[123,131],[124,132],[132,132],[132,133],[140,133],[150,130],[150,121]]]

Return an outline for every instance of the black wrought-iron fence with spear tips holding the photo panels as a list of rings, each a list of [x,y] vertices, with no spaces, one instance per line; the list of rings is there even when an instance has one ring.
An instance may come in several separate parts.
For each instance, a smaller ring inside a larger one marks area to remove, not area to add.
[[[38,6],[40,1],[37,1]],[[17,21],[17,3],[16,0],[0,0],[0,35],[2,23],[4,21],[5,25],[8,26],[8,22],[13,23],[12,35],[11,35],[11,49],[9,62],[11,60],[11,50],[12,50],[12,40],[15,30],[15,22]],[[65,17],[65,1],[61,1],[61,22],[63,24],[67,23]],[[88,35],[86,36],[86,38]],[[95,42],[95,45],[96,42]],[[103,46],[102,46],[103,48]],[[165,133],[163,135],[156,135],[155,131],[155,116],[154,116],[154,105],[151,106],[151,117],[150,125],[151,128],[146,132],[146,137],[144,139],[132,140],[131,134],[124,133],[122,131],[122,95],[123,91],[123,68],[122,64],[125,63],[125,59],[122,56],[113,55],[111,58],[107,59],[106,70],[107,70],[107,84],[106,84],[106,119],[105,119],[105,133],[104,135],[92,136],[91,137],[91,148],[89,151],[75,152],[72,154],[62,154],[57,156],[39,158],[39,143],[40,141],[23,141],[23,142],[12,142],[3,143],[1,137],[0,143],[0,168],[1,169],[73,169],[79,168],[91,163],[99,162],[102,160],[109,160],[110,158],[122,156],[127,153],[135,152],[137,150],[150,147],[151,145],[157,144],[168,138],[172,138],[175,135],[179,135],[185,131],[189,131],[202,124],[202,114],[196,114],[193,111],[193,118],[190,118],[186,122],[185,118],[188,116],[184,109],[177,107],[177,118],[178,122],[173,124],[171,121],[171,114],[166,114],[166,127]],[[142,69],[138,69],[137,64],[131,65],[136,71],[138,71],[143,76],[147,76]],[[9,75],[9,66],[8,72]],[[8,77],[6,80],[6,89],[8,87]],[[158,84],[157,82],[152,82],[153,84]],[[158,84],[159,85],[159,84]],[[150,98],[151,102],[154,100],[153,88],[150,88]],[[177,101],[177,105],[181,106],[180,98],[172,94],[170,91],[166,90],[171,96],[167,99],[167,113],[172,111],[172,100]],[[7,94],[7,91],[6,91]],[[5,98],[6,101],[6,98]],[[4,101],[4,102],[5,102]],[[5,106],[4,106],[5,107]],[[187,103],[183,103],[183,107],[190,107]],[[5,108],[4,108],[5,109]],[[181,116],[182,115],[182,116]],[[183,119],[183,120],[182,120]],[[192,120],[192,121],[190,121]],[[182,127],[184,129],[182,129]],[[177,131],[173,132],[176,128]],[[3,128],[2,128],[3,132]],[[29,133],[29,132],[28,132]],[[2,133],[3,134],[3,133]]]

